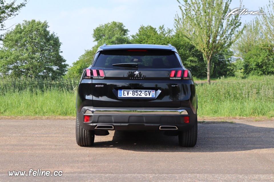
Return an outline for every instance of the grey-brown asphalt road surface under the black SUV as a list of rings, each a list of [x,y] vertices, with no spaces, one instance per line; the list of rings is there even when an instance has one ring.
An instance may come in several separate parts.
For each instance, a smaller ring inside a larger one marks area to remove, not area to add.
[[[198,124],[193,148],[158,132],[75,142],[73,120],[0,120],[0,181],[274,181],[274,121]],[[9,171],[63,171],[9,176]]]

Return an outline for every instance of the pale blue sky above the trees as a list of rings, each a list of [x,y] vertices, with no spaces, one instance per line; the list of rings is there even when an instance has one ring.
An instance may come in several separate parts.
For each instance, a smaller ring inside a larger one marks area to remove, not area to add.
[[[239,0],[232,0],[230,8],[238,8],[239,4]],[[259,7],[267,4],[268,0],[242,3],[249,11],[259,11]],[[62,42],[63,57],[72,65],[85,49],[96,44],[92,32],[98,25],[119,21],[130,31],[129,35],[135,34],[141,25],[158,28],[164,24],[166,28],[174,28],[175,14],[180,13],[178,5],[176,0],[29,0],[18,16],[6,21],[6,27],[23,20],[47,20],[49,30]],[[251,21],[255,16],[242,15],[241,21]]]

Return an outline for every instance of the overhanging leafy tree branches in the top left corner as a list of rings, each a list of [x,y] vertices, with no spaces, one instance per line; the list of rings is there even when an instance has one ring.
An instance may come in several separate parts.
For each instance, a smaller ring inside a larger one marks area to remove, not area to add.
[[[15,5],[16,0],[6,3],[5,0],[0,0],[0,30],[5,29],[5,21],[13,18],[19,14],[20,9],[27,4],[27,0],[23,0],[23,3]],[[0,40],[3,40],[3,35],[0,35]]]

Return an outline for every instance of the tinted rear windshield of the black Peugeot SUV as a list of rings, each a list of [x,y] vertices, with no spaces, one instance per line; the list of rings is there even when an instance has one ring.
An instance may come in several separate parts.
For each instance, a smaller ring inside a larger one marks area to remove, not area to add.
[[[106,50],[101,51],[94,67],[125,68],[125,66],[113,66],[120,63],[138,64],[138,68],[170,69],[179,68],[179,62],[173,51],[165,50]]]

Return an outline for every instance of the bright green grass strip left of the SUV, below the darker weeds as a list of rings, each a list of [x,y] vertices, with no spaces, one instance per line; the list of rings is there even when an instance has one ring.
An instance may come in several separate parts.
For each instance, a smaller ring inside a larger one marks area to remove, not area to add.
[[[11,90],[0,93],[2,116],[74,116],[75,91],[61,88]]]

